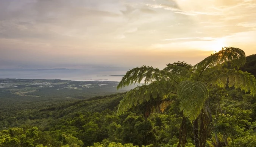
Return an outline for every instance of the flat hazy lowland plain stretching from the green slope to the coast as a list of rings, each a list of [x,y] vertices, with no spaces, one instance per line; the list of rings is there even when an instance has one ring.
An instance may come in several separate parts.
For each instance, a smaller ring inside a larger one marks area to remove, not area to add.
[[[17,126],[16,121],[5,120],[21,117],[22,113],[125,92],[134,87],[117,90],[117,84],[115,81],[0,79],[0,130]]]

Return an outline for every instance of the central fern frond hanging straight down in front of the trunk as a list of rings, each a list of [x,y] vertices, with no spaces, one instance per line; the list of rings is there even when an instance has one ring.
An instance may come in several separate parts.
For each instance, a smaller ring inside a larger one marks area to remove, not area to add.
[[[195,120],[209,96],[206,84],[200,81],[183,81],[178,85],[177,93],[183,114],[190,121]]]

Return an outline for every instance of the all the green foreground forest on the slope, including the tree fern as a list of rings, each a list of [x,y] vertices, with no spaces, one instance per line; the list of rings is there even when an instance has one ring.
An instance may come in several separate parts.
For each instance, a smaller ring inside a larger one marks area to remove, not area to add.
[[[0,147],[255,147],[255,77],[256,54],[233,47],[195,66],[137,67],[118,85],[145,82],[129,92],[9,109]]]

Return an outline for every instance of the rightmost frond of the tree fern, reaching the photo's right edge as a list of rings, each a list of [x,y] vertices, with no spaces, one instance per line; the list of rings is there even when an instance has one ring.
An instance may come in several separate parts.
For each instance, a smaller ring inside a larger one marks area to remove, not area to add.
[[[256,79],[248,72],[236,69],[220,69],[209,73],[209,84],[216,84],[220,87],[234,86],[250,92],[251,95],[256,94]]]

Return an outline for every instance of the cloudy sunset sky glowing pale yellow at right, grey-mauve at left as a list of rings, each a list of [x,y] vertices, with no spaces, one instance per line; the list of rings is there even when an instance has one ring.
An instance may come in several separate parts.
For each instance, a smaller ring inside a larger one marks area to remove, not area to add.
[[[256,54],[256,0],[0,0],[0,69],[196,64]]]

